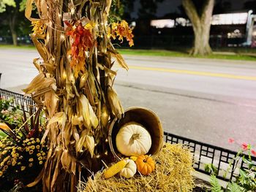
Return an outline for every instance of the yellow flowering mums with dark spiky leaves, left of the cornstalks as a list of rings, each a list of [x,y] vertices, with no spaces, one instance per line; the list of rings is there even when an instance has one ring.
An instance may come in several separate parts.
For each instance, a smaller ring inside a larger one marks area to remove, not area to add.
[[[41,171],[47,158],[48,147],[41,142],[44,134],[42,117],[37,111],[29,118],[24,112],[23,126],[9,127],[0,124],[0,130],[7,135],[0,140],[0,188],[8,188],[19,180],[28,184],[34,180]],[[9,188],[10,189],[10,188]]]

